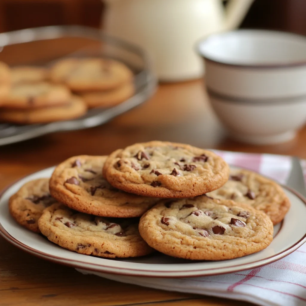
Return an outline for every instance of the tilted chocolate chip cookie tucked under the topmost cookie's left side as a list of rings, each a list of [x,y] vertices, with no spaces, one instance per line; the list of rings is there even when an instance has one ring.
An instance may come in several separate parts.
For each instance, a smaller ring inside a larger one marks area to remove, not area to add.
[[[59,202],[87,214],[103,217],[139,217],[158,199],[136,196],[111,186],[102,177],[107,156],[81,155],[58,165],[50,192]]]

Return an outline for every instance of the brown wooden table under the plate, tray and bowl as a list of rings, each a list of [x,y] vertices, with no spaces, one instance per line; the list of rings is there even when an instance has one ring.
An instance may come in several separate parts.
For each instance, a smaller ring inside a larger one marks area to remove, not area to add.
[[[170,140],[203,148],[306,158],[306,127],[290,143],[255,147],[228,139],[213,115],[202,81],[163,84],[155,96],[112,122],[0,147],[0,189],[79,154],[106,155],[135,142]],[[0,305],[251,305],[126,285],[37,259],[0,238]]]

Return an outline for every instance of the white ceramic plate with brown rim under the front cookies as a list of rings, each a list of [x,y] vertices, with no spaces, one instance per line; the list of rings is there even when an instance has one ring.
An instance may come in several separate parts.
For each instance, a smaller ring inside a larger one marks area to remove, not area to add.
[[[216,275],[262,266],[278,260],[306,241],[306,202],[287,187],[291,208],[284,221],[274,227],[274,240],[265,250],[237,259],[196,261],[177,259],[161,253],[128,259],[104,259],[68,251],[45,237],[19,226],[9,215],[8,200],[27,181],[50,177],[54,168],[31,174],[7,188],[0,196],[0,234],[10,243],[35,256],[83,271],[145,277],[191,277]]]

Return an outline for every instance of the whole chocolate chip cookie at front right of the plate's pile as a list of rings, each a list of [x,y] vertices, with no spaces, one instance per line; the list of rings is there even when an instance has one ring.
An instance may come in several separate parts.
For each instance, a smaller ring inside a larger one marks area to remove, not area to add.
[[[205,195],[162,200],[139,222],[141,237],[166,255],[195,260],[242,257],[266,248],[273,224],[262,211]]]

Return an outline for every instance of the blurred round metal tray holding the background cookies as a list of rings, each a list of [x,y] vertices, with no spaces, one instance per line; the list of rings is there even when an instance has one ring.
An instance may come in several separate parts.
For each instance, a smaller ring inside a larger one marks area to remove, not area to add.
[[[20,44],[22,50],[19,52]],[[128,65],[135,75],[135,95],[107,109],[91,109],[83,117],[49,124],[0,123],[0,145],[27,140],[51,132],[91,128],[140,105],[155,92],[157,79],[141,48],[99,30],[80,26],[51,26],[0,34],[0,61],[13,65],[49,66],[59,58],[103,56]]]

